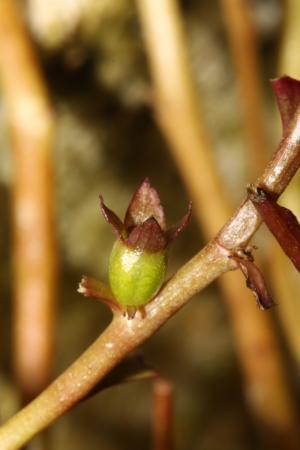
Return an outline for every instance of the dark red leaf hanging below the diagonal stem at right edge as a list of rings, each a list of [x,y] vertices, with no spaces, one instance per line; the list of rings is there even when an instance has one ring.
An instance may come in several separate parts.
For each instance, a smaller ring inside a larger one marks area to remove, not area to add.
[[[289,209],[278,205],[275,199],[261,188],[250,193],[250,200],[282,250],[300,272],[300,224],[296,216]]]

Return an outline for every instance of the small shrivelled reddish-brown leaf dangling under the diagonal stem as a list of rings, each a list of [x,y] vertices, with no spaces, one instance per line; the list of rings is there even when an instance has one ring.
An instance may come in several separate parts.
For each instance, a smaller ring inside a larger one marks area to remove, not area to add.
[[[255,265],[253,258],[249,256],[247,258],[232,256],[232,259],[236,261],[245,275],[247,287],[254,293],[257,306],[260,309],[269,309],[274,306],[275,303],[267,290],[263,274]]]

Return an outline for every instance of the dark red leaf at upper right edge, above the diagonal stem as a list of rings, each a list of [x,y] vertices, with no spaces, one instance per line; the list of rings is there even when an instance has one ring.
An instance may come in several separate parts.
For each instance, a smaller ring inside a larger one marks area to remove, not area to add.
[[[271,81],[280,111],[283,136],[288,133],[291,120],[300,104],[300,81],[284,76]]]

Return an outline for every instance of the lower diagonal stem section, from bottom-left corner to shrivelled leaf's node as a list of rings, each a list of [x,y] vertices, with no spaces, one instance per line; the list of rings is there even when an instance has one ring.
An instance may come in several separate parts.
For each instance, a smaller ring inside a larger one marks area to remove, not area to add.
[[[15,450],[72,408],[131,350],[150,337],[188,299],[232,263],[217,244],[208,244],[148,305],[145,318],[120,314],[100,337],[42,394],[0,429],[0,450]]]

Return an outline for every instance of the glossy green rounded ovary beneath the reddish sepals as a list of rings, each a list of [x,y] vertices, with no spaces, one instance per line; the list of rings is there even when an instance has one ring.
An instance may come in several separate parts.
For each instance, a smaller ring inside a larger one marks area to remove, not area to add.
[[[109,260],[109,282],[118,303],[135,308],[148,303],[160,288],[166,267],[166,251],[130,249],[117,241]]]

